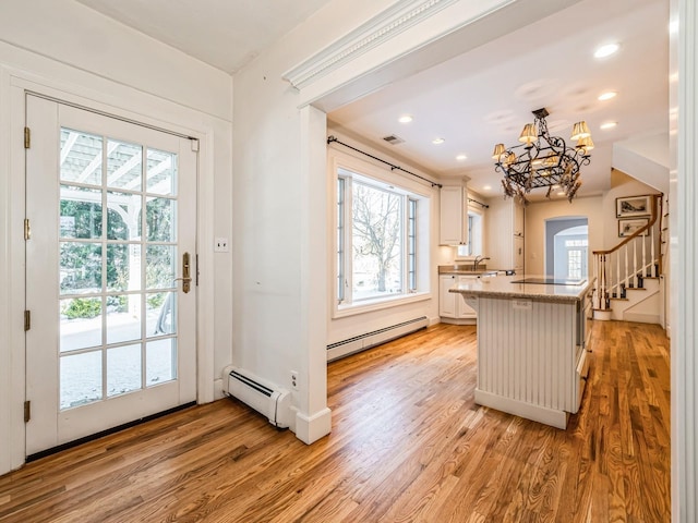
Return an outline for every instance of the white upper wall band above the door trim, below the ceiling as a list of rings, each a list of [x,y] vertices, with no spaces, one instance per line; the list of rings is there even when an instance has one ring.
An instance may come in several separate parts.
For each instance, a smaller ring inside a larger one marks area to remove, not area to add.
[[[0,40],[224,120],[230,76],[73,0],[5,1]],[[79,81],[77,81],[79,82]]]

